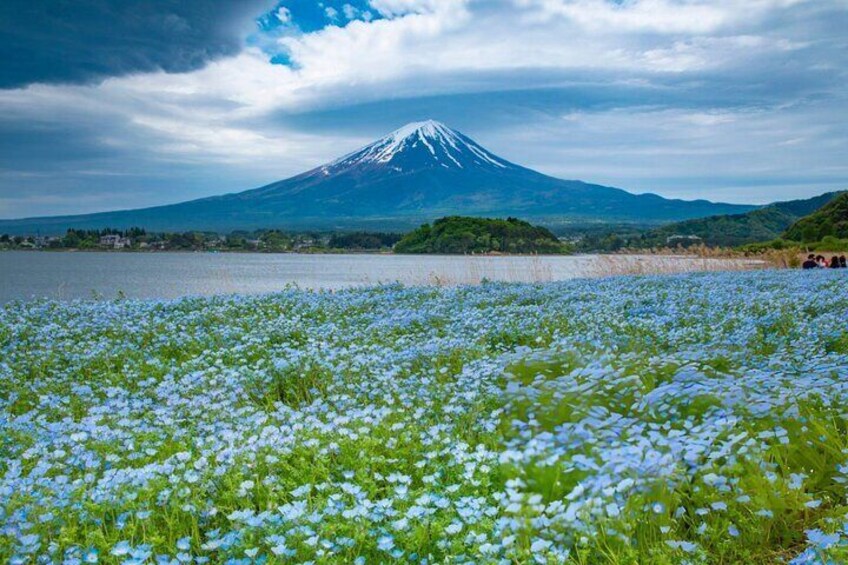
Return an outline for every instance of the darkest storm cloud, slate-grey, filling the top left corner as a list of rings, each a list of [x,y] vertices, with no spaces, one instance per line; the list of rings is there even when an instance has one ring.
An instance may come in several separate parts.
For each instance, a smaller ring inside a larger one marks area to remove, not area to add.
[[[0,88],[186,72],[237,53],[267,0],[3,0]]]

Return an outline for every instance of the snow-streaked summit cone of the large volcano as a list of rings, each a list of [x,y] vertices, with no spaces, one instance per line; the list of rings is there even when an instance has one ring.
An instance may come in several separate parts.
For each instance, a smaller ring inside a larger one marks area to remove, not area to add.
[[[389,164],[398,171],[439,166],[444,168],[511,165],[441,122],[426,120],[406,124],[389,135],[330,163],[329,169],[356,165]]]

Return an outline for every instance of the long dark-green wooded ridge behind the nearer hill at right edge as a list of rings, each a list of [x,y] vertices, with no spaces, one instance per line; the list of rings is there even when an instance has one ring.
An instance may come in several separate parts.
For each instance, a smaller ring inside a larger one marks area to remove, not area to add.
[[[710,216],[667,224],[649,230],[643,241],[649,246],[698,241],[722,247],[769,241],[780,237],[796,220],[818,210],[840,194],[845,196],[847,193],[828,192],[804,200],[775,202],[744,214]],[[687,239],[691,236],[699,239]]]

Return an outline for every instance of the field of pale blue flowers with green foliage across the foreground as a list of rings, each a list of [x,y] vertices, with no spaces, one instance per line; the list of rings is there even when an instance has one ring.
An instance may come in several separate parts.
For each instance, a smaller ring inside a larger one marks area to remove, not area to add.
[[[848,562],[841,271],[0,308],[2,563]]]

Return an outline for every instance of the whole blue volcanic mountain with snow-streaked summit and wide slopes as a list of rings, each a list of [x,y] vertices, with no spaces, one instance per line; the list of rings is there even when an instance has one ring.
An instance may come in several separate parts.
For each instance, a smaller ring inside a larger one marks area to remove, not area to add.
[[[331,163],[244,192],[179,204],[0,221],[0,233],[68,228],[149,231],[401,229],[445,215],[660,223],[755,206],[671,200],[562,180],[511,163],[442,123],[397,131]]]

